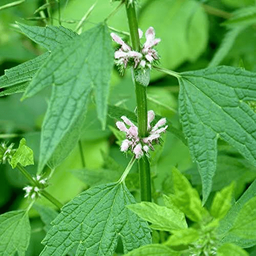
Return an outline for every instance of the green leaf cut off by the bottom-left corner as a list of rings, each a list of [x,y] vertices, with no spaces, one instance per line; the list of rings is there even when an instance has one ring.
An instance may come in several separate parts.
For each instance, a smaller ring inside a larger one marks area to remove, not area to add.
[[[0,251],[3,256],[25,256],[30,240],[30,223],[26,210],[0,215]]]

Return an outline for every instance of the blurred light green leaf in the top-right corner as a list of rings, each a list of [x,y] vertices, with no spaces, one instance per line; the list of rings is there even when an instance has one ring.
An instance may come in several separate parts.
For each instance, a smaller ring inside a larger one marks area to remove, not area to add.
[[[223,25],[228,27],[249,26],[256,23],[256,7],[249,6],[238,9],[232,13],[232,16],[227,19]]]

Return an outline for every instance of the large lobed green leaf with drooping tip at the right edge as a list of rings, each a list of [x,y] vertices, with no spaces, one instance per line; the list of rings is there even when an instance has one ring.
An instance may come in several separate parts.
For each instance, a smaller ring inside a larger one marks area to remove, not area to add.
[[[256,74],[220,66],[179,76],[179,113],[207,200],[221,137],[256,165],[256,115],[245,101],[256,98]]]

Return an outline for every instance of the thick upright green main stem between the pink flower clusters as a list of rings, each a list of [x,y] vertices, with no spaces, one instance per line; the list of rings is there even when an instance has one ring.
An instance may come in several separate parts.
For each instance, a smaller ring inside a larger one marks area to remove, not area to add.
[[[140,51],[140,39],[138,32],[138,23],[134,4],[126,5],[126,14],[129,23],[129,30],[133,50]],[[132,71],[132,76],[134,72]],[[138,131],[139,137],[144,138],[147,136],[147,101],[146,101],[146,87],[142,86],[135,80],[135,93],[137,101],[137,118],[138,118]],[[150,163],[148,159],[143,156],[138,160],[139,165],[139,180],[140,180],[140,198],[141,201],[151,202],[151,174]]]

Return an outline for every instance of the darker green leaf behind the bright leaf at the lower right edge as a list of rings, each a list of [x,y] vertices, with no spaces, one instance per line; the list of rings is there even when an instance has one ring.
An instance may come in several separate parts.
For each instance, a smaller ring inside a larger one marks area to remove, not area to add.
[[[236,236],[229,230],[232,228],[234,221],[238,218],[240,210],[253,197],[256,197],[256,180],[249,186],[241,198],[230,208],[227,215],[221,220],[218,228],[218,236],[222,237],[221,243],[234,243],[241,247],[251,247],[256,244],[255,239],[244,239]]]

